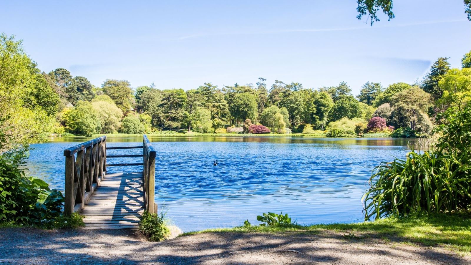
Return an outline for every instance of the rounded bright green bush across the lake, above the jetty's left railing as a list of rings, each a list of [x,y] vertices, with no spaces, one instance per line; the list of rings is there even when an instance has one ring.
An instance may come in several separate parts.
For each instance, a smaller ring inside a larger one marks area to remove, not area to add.
[[[91,136],[101,132],[101,120],[92,104],[79,101],[75,108],[64,114],[67,132]]]

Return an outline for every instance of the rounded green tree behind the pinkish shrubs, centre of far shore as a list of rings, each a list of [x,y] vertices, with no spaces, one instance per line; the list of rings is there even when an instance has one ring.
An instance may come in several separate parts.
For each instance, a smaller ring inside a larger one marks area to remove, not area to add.
[[[236,119],[236,124],[239,120],[256,120],[258,111],[256,96],[249,92],[236,93],[232,104],[229,105],[229,111]]]

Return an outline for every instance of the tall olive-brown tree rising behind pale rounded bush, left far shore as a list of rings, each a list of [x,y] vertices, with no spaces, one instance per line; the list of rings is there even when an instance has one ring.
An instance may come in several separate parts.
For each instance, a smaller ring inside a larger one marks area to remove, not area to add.
[[[101,85],[103,92],[113,99],[114,103],[118,108],[121,108],[123,113],[130,110],[133,104],[132,90],[130,88],[129,81],[126,80],[115,80],[106,79]]]

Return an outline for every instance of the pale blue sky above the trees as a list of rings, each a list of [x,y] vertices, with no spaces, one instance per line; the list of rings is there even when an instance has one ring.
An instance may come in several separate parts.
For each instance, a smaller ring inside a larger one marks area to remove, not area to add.
[[[276,79],[305,88],[413,83],[438,57],[471,50],[462,0],[394,0],[373,27],[355,0],[1,1],[0,32],[24,40],[42,71],[101,85],[194,89]]]

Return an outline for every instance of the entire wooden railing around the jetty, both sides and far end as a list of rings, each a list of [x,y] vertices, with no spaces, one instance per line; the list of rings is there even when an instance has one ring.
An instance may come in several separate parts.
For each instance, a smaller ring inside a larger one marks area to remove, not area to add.
[[[95,138],[64,150],[65,156],[65,215],[80,211],[98,184],[105,178],[109,166],[144,166],[143,189],[146,210],[156,213],[155,149],[146,135],[143,146],[106,147],[106,136]],[[109,149],[143,149],[142,155],[106,155]],[[143,163],[106,164],[111,157],[144,157]]]

